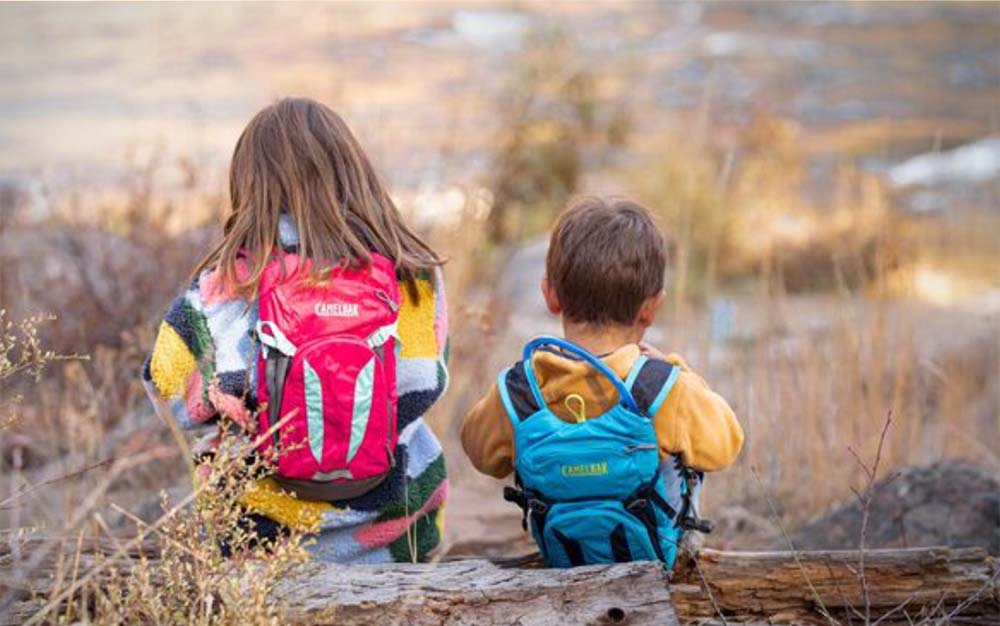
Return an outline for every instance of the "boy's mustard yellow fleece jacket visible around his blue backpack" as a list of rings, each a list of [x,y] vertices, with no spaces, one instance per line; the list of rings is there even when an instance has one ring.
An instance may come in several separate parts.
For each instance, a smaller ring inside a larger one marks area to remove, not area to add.
[[[624,379],[639,355],[639,346],[629,344],[601,360]],[[671,354],[667,360],[681,372],[653,416],[660,457],[680,454],[686,465],[699,471],[729,466],[743,447],[743,429],[736,415],[680,356]],[[562,420],[575,420],[564,404],[570,394],[584,399],[588,418],[604,413],[618,401],[611,381],[587,363],[548,351],[536,352],[531,363],[546,404]],[[514,431],[495,383],[465,416],[462,447],[484,474],[503,478],[514,471]]]

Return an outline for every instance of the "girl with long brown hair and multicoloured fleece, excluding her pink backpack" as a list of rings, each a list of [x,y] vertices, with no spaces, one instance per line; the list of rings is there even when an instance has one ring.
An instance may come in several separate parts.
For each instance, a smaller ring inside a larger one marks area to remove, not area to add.
[[[395,400],[391,437],[398,438],[382,458],[385,475],[360,495],[332,501],[295,497],[267,476],[242,506],[259,537],[297,528],[314,536],[310,549],[324,560],[426,559],[441,540],[448,494],[441,446],[423,419],[448,380],[440,257],[403,222],[345,122],[313,100],[284,99],[254,116],[236,143],[229,192],[222,238],[173,302],[144,368],[154,403],[182,428],[207,430],[209,451],[220,420],[253,432],[266,414],[256,370],[267,348],[255,331],[269,268],[298,268],[316,284],[394,268],[398,289],[390,283],[387,291],[399,299],[389,302],[398,314],[395,378],[386,400]],[[350,305],[317,307],[318,315],[357,314]],[[341,443],[327,443],[327,451]]]

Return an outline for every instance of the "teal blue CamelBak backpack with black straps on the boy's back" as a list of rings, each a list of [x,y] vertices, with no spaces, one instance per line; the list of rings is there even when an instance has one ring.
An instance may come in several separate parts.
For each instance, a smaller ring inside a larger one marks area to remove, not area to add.
[[[555,347],[593,366],[618,390],[597,417],[566,422],[548,408],[531,366]],[[524,347],[523,360],[497,381],[514,426],[515,484],[504,498],[524,512],[548,567],[661,561],[673,567],[685,530],[708,532],[695,507],[701,475],[678,457],[661,464],[651,416],[679,368],[641,356],[622,381],[596,356],[555,337]]]

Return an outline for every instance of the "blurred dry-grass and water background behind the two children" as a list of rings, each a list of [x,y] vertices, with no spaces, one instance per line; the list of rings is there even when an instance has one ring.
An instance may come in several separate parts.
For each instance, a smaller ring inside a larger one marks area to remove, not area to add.
[[[454,553],[528,547],[457,434],[520,342],[558,331],[545,233],[578,193],[656,214],[651,338],[747,433],[709,478],[710,544],[836,544],[817,524],[891,412],[880,475],[987,499],[893,505],[885,542],[945,528],[1000,552],[1000,4],[3,4],[0,42],[5,535],[104,532],[126,525],[111,503],[148,519],[190,490],[139,369],[219,233],[242,127],[304,95],[449,259],[430,419]]]

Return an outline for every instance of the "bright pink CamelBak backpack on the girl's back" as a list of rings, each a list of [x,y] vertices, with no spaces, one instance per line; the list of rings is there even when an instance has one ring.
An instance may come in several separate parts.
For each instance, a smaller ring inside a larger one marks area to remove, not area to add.
[[[395,465],[399,286],[377,254],[318,285],[309,267],[286,254],[261,277],[259,432],[287,420],[259,450],[270,457],[277,445],[274,478],[300,498],[346,500]]]

